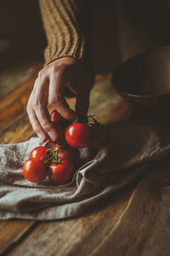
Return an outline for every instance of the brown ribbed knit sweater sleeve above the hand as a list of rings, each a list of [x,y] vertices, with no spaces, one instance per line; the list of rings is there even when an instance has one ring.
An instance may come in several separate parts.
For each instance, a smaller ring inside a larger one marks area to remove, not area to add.
[[[65,56],[88,61],[87,39],[81,27],[83,1],[86,0],[39,0],[48,39],[45,66]]]

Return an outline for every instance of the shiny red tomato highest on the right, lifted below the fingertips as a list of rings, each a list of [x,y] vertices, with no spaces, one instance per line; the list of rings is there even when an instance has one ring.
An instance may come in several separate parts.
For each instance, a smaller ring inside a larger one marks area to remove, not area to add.
[[[88,147],[91,142],[91,129],[83,123],[69,125],[65,131],[65,140],[72,148]]]

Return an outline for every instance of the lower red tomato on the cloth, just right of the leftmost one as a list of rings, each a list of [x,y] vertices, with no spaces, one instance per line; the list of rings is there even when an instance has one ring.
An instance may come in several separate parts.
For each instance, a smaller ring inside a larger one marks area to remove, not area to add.
[[[48,166],[49,179],[57,184],[68,183],[74,171],[74,166],[70,160],[62,160],[60,164],[51,164]]]

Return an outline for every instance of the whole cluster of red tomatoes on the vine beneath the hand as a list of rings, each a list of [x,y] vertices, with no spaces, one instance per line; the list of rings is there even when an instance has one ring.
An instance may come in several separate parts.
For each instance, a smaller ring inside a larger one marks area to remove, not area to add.
[[[69,125],[54,109],[50,120],[59,135],[57,142],[54,142],[57,144],[54,148],[34,148],[23,166],[24,177],[32,183],[41,183],[47,176],[56,185],[68,183],[79,160],[78,148],[100,149],[109,143],[105,125],[100,125],[93,115],[88,118],[93,119],[93,124],[76,119]]]

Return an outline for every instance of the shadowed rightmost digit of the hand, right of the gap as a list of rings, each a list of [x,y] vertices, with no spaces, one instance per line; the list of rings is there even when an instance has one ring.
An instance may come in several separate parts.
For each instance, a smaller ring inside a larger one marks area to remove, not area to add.
[[[89,108],[89,90],[82,90],[77,93],[75,110],[77,115],[87,116]]]

